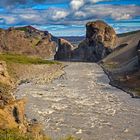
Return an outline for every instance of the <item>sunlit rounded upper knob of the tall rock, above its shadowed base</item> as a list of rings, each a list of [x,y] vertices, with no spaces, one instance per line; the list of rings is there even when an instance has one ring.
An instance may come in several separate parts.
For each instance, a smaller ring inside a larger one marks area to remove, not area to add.
[[[117,36],[111,26],[103,21],[97,20],[86,24],[86,40],[89,45],[103,43],[105,48],[113,49],[116,45]]]

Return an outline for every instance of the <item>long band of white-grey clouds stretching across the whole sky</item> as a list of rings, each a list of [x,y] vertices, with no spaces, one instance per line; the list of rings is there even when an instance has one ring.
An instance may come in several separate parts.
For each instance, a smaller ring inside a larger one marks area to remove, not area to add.
[[[97,0],[96,0],[97,2]],[[103,5],[86,3],[80,9],[49,8],[33,10],[31,8],[10,9],[9,14],[0,13],[2,24],[62,24],[84,25],[89,20],[113,19],[128,20],[139,16],[140,7],[136,5]]]

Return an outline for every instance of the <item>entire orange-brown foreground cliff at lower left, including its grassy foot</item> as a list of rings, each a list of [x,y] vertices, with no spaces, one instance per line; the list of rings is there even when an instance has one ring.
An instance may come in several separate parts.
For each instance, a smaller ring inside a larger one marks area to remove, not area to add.
[[[15,87],[6,63],[0,61],[0,139],[45,140],[41,125],[27,121],[26,99],[15,99]]]

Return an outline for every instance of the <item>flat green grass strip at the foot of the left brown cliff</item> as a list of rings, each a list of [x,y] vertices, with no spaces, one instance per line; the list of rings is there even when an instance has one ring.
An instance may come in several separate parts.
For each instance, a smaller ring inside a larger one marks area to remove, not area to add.
[[[29,57],[20,54],[4,53],[0,54],[0,60],[6,61],[7,63],[20,63],[20,64],[59,64],[55,61],[43,60],[37,57]]]

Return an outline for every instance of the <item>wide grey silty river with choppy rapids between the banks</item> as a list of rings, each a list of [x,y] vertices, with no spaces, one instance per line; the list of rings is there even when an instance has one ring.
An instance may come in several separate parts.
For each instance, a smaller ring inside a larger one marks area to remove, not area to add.
[[[23,84],[26,114],[44,125],[53,139],[140,140],[140,100],[110,86],[97,64],[66,63],[66,74],[49,85]]]

